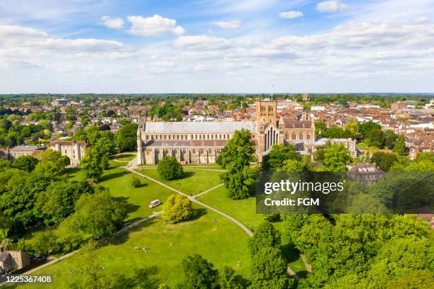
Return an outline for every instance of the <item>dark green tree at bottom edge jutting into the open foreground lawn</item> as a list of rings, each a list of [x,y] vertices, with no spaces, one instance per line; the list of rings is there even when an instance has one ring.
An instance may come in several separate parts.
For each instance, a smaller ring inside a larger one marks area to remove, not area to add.
[[[201,255],[194,254],[182,261],[184,282],[180,288],[185,289],[213,289],[218,288],[218,271],[213,263],[206,261]]]

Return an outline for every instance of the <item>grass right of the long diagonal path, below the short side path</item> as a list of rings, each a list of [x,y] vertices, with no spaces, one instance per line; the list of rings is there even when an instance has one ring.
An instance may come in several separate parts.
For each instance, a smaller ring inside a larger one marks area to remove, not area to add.
[[[242,222],[249,229],[254,230],[261,222],[264,221],[264,217],[262,214],[256,213],[256,199],[255,197],[250,197],[244,200],[231,200],[226,195],[226,188],[216,188],[213,191],[210,191],[199,198],[202,202],[213,206],[222,212],[226,212],[226,214],[235,217],[235,219]],[[282,249],[284,251],[284,255],[288,260],[288,265],[294,270],[299,276],[306,276],[306,267],[304,266],[301,257],[299,256],[299,252],[294,249],[293,246],[289,244],[289,239],[284,234],[284,222],[273,222],[272,223],[276,229],[282,232]]]

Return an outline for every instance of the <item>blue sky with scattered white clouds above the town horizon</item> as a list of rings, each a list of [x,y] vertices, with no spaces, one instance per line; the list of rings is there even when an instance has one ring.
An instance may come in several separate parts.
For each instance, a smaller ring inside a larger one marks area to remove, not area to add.
[[[0,94],[434,92],[434,0],[0,0]]]

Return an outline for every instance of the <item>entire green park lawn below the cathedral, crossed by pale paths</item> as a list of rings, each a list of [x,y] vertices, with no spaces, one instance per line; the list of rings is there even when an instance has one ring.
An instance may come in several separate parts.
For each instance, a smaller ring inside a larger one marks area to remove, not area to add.
[[[218,171],[189,168],[184,168],[184,171],[186,171],[186,177],[176,181],[162,180],[157,174],[157,169],[141,169],[140,173],[193,195],[221,183],[219,178],[221,172]],[[69,169],[67,174],[71,181],[84,179],[83,171],[79,169]],[[142,186],[133,188],[130,185],[133,175],[135,174],[126,169],[113,167],[104,171],[100,182],[102,186],[109,188],[114,198],[127,203],[127,222],[161,210],[161,207],[149,209],[150,200],[159,198],[164,201],[172,194],[169,189],[140,176],[138,177],[142,181]],[[251,229],[255,229],[263,221],[263,216],[255,212],[255,198],[231,200],[226,196],[224,187],[209,191],[200,196],[198,200],[226,212]],[[206,210],[196,204],[194,208],[197,212],[196,217],[188,222],[165,225],[162,220],[153,219],[110,239],[96,249],[99,263],[105,266],[110,274],[120,274],[133,279],[146,278],[153,284],[149,288],[156,288],[160,283],[169,283],[172,286],[180,283],[183,279],[181,262],[191,254],[201,254],[216,268],[224,265],[231,266],[240,278],[248,278],[250,254],[247,234],[233,222],[211,210]],[[213,218],[216,222],[213,222]],[[283,231],[283,222],[276,222],[274,226],[281,232]],[[140,248],[147,246],[150,251],[135,250],[135,246]],[[299,276],[304,276],[306,268],[298,252],[289,246],[284,234],[282,234],[282,249],[292,270],[296,271]],[[74,255],[35,273],[35,275],[52,276],[55,281],[50,285],[21,287],[62,288],[67,282],[69,270],[74,266],[79,266],[78,260],[79,256]]]

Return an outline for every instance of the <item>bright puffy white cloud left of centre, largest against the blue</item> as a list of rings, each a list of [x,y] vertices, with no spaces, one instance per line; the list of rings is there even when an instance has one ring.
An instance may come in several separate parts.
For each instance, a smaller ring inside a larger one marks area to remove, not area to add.
[[[185,33],[184,28],[177,26],[174,19],[164,18],[155,14],[152,17],[128,16],[128,21],[132,24],[128,33],[138,36],[156,36],[156,35],[182,35]]]

